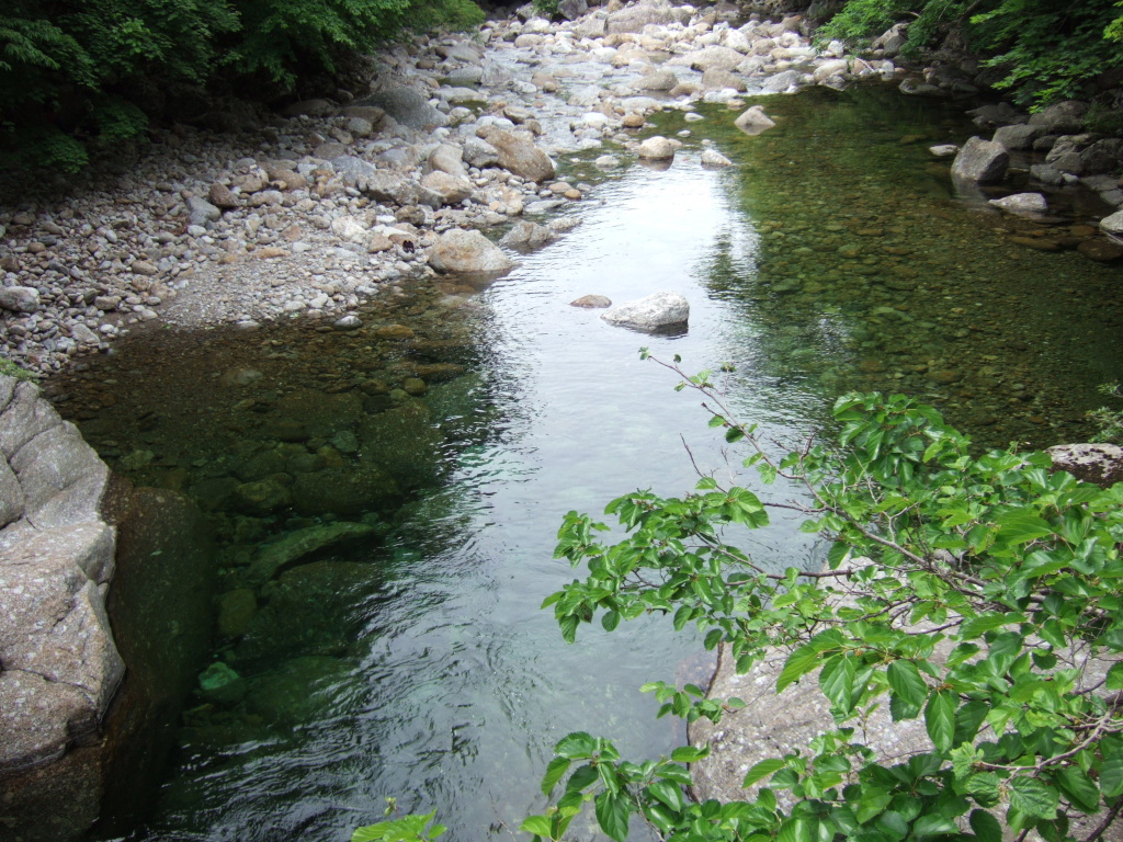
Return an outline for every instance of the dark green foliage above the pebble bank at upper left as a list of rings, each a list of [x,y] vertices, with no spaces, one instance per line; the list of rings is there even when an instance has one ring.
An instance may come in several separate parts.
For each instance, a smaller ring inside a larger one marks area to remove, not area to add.
[[[0,12],[0,163],[76,172],[189,88],[291,88],[403,29],[482,20],[472,0],[12,0]]]

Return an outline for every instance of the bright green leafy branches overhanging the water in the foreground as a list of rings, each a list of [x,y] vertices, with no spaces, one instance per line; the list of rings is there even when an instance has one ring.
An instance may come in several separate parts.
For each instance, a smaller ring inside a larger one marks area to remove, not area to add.
[[[685,763],[704,747],[633,762],[603,738],[569,734],[542,781],[560,796],[522,830],[562,839],[592,802],[618,842],[633,821],[683,842],[999,842],[1004,825],[1060,842],[1075,838],[1072,818],[1104,814],[1080,834],[1098,839],[1123,807],[1123,484],[1050,474],[1039,452],[973,456],[934,410],[900,395],[839,399],[839,448],[812,439],[776,459],[709,373],[681,386],[749,448],[747,466],[796,484],[803,502],[704,476],[683,497],[612,501],[623,537],[610,542],[608,525],[570,512],[556,555],[585,578],[545,605],[567,640],[596,619],[611,631],[657,613],[696,625],[742,672],[786,652],[777,692],[821,693],[836,730],[757,763],[745,785],[767,786],[729,804],[685,795]],[[803,531],[830,539],[822,571],[772,573],[727,542],[776,509],[804,512]],[[660,715],[720,721],[740,704],[692,686],[645,689]],[[880,758],[864,744],[861,724],[885,704],[894,721],[923,721],[920,753]],[[785,789],[791,809],[776,797]]]

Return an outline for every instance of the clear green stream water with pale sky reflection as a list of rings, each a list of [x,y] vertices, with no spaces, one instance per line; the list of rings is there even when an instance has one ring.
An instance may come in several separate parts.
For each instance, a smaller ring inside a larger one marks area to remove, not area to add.
[[[723,108],[665,115],[663,134],[693,132],[669,170],[564,159],[602,182],[568,211],[584,223],[490,286],[407,285],[353,332],[156,331],[52,384],[118,470],[211,511],[220,592],[243,606],[211,659],[239,680],[188,702],[155,805],[107,833],[341,841],[398,796],[478,841],[542,806],[568,731],[669,751],[682,733],[638,687],[704,677],[699,641],[652,617],[565,646],[538,607],[574,575],[551,559],[566,511],[683,493],[692,456],[725,464],[640,346],[736,364],[730,400],[778,438],[852,388],[935,403],[982,445],[1085,437],[1096,384],[1123,368],[1123,271],[1011,242],[1079,235],[1079,196],[1037,225],[953,194],[926,147],[971,134],[962,108],[816,90],[768,99],[779,125],[755,138]],[[701,168],[703,137],[737,167]],[[687,331],[568,305],[657,290],[690,299]],[[279,540],[339,522],[369,529],[258,575]],[[750,547],[775,566],[821,549],[792,523]]]

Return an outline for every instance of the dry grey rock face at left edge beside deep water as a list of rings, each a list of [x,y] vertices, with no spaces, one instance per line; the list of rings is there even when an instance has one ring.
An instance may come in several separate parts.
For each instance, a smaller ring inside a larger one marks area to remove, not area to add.
[[[39,396],[0,376],[0,774],[94,731],[124,675],[104,608],[109,469]]]

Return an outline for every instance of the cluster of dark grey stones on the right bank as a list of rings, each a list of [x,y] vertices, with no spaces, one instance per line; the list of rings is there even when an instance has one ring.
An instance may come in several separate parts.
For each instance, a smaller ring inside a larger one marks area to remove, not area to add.
[[[962,190],[1003,185],[1017,192],[990,199],[994,207],[1042,223],[1063,222],[1049,217],[1049,194],[1084,189],[1104,209],[1098,230],[1083,226],[1079,236],[1041,229],[1039,237],[1016,237],[1021,245],[1056,251],[1077,248],[1086,257],[1111,263],[1123,257],[1123,138],[1103,137],[1085,128],[1089,106],[1077,100],[1058,102],[1026,115],[1008,103],[971,111],[975,123],[993,130],[989,140],[975,136],[956,152],[952,179]],[[985,194],[984,194],[985,195]],[[1086,229],[1086,230],[1085,230]]]

